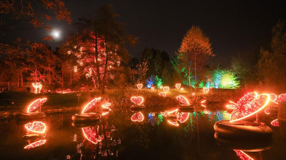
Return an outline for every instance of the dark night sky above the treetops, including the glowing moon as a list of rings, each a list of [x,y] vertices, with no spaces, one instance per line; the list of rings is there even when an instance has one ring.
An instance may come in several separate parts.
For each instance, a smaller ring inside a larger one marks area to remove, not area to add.
[[[259,52],[261,46],[269,47],[271,29],[279,19],[285,19],[286,1],[110,1],[64,0],[75,21],[92,13],[104,4],[113,4],[126,31],[139,37],[140,44],[129,49],[129,54],[140,58],[145,46],[175,55],[186,31],[192,25],[200,26],[212,42],[216,57],[211,61],[229,67],[231,57],[238,52]],[[61,38],[50,42],[53,49],[68,36],[67,22],[50,21]],[[42,38],[47,31],[18,32],[17,36],[33,34]],[[31,35],[29,36],[31,37]],[[30,38],[31,39],[31,38]],[[33,39],[31,39],[33,40]]]

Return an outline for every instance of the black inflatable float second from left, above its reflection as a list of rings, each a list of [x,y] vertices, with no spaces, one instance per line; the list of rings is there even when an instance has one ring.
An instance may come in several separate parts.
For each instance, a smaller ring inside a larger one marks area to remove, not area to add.
[[[76,113],[72,116],[72,120],[76,122],[100,121],[100,119],[99,113]]]

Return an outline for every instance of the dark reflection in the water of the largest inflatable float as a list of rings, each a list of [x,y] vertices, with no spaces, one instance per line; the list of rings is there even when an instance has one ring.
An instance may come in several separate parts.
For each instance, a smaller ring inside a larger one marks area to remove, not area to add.
[[[227,148],[234,150],[242,150],[247,152],[259,152],[263,150],[268,150],[273,145],[272,138],[258,138],[258,139],[245,139],[240,138],[228,138],[221,136],[218,133],[214,134],[216,143]]]

